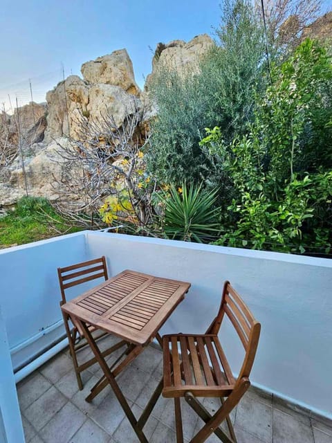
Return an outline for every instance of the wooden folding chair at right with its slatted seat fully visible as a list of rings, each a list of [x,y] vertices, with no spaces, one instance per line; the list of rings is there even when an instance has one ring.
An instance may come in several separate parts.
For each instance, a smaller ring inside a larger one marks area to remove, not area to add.
[[[225,315],[230,319],[245,351],[237,378],[232,374],[218,338]],[[248,377],[254,363],[260,329],[260,323],[252,316],[239,294],[230,282],[225,282],[218,315],[205,334],[163,336],[163,396],[174,398],[178,443],[183,442],[180,397],[184,397],[205,422],[191,443],[205,442],[212,433],[224,443],[237,442],[230,413],[250,386]],[[196,397],[219,397],[221,406],[214,415],[210,415]],[[229,436],[219,428],[224,420],[228,425]]]

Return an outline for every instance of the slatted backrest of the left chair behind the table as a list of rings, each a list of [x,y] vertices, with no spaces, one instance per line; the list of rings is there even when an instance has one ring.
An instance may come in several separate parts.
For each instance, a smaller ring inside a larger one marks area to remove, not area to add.
[[[80,270],[75,271],[76,269]],[[77,286],[77,284],[82,284],[91,280],[95,280],[97,278],[104,278],[104,280],[108,279],[106,259],[104,256],[102,256],[94,260],[89,260],[88,262],[81,262],[77,264],[72,264],[71,266],[58,268],[57,275],[59,277],[62,302],[65,303],[66,289]]]

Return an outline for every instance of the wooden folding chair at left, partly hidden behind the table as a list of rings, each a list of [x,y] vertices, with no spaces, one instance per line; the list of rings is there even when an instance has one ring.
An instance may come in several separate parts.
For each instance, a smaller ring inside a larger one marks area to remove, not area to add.
[[[102,256],[100,258],[96,258],[95,260],[89,260],[88,262],[82,262],[73,264],[72,266],[66,266],[64,268],[57,269],[57,275],[59,277],[59,285],[62,300],[60,302],[60,306],[66,303],[66,289],[77,286],[77,284],[82,284],[85,282],[89,282],[91,280],[95,280],[97,278],[104,278],[104,280],[108,279],[107,273],[107,264],[105,257]],[[85,361],[84,363],[79,364],[77,361],[77,351],[81,350],[82,347],[88,345],[86,339],[84,338],[84,332],[82,331],[82,327],[77,322],[75,317],[69,317],[64,311],[62,311],[62,316],[64,317],[64,327],[66,328],[66,334],[68,337],[69,350],[71,352],[71,357],[73,359],[74,370],[77,378],[77,384],[80,390],[83,389],[83,383],[81,378],[81,372],[86,368],[89,368],[93,365],[97,360],[95,357]],[[69,320],[73,323],[73,327],[70,326]],[[93,333],[97,331],[97,329],[93,326],[89,326],[89,332]],[[107,335],[107,332],[97,333],[95,335],[95,340],[104,337]],[[82,343],[81,343],[82,341]],[[107,356],[119,349],[123,345],[127,345],[125,341],[120,341],[113,345],[106,351],[102,352],[103,356]]]

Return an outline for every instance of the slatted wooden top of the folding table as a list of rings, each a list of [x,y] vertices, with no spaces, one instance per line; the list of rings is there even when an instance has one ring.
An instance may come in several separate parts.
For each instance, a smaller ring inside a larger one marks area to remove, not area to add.
[[[149,343],[190,283],[126,270],[62,305],[80,318],[136,345]]]

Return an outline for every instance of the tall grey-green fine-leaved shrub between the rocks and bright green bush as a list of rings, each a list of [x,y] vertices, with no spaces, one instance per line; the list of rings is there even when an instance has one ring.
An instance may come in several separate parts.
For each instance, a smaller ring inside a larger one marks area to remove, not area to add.
[[[257,84],[264,88],[263,32],[252,4],[229,0],[222,12],[217,42],[200,71],[178,73],[159,65],[151,84],[158,118],[151,123],[147,163],[162,183],[203,180],[220,186],[218,165],[199,145],[204,128],[218,125],[227,141],[245,132]]]

